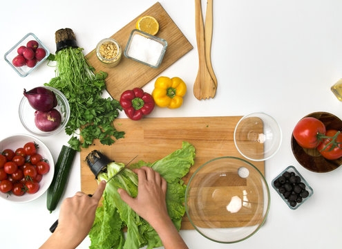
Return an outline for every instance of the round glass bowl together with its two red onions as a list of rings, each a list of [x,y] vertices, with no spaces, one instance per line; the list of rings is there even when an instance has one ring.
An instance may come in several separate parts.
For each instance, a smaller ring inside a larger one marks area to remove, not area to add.
[[[70,117],[68,100],[61,91],[50,86],[24,89],[19,104],[23,127],[36,136],[51,136],[63,130]]]

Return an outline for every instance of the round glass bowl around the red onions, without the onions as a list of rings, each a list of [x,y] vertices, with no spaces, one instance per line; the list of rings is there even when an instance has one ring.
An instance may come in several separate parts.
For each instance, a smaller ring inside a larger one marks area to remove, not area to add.
[[[51,136],[54,134],[59,133],[59,131],[63,130],[66,127],[66,124],[68,123],[69,117],[70,117],[70,107],[69,102],[64,96],[61,91],[50,87],[50,86],[43,86],[46,89],[49,89],[50,91],[53,91],[57,98],[57,107],[54,107],[61,113],[61,124],[57,129],[53,131],[41,131],[39,130],[35,125],[35,109],[33,109],[30,106],[30,103],[28,102],[28,98],[23,96],[21,99],[21,102],[19,104],[19,118],[21,121],[21,124],[23,124],[23,127],[25,127],[30,133],[35,134],[36,136]]]

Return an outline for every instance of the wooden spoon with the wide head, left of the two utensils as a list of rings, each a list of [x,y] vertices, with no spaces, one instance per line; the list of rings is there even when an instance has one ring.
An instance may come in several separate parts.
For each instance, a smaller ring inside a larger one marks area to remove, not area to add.
[[[196,41],[198,47],[198,74],[193,84],[193,95],[198,100],[213,98],[216,94],[216,84],[213,82],[207,68],[205,56],[205,28],[203,26],[201,0],[195,0],[196,10]]]

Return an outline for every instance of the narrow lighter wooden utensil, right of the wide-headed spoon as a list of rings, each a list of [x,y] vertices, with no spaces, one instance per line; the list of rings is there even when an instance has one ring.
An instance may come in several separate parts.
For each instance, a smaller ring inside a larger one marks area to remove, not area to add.
[[[218,80],[215,73],[213,73],[213,66],[211,66],[211,38],[213,36],[213,0],[207,1],[207,10],[205,13],[205,59],[207,68],[215,82],[216,88],[218,87]]]

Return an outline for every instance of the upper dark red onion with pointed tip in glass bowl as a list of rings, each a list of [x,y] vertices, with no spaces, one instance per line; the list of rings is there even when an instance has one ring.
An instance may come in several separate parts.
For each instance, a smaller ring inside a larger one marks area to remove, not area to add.
[[[23,89],[23,95],[28,98],[31,107],[37,111],[48,111],[57,106],[55,93],[42,86],[28,92],[26,92],[26,89]]]

